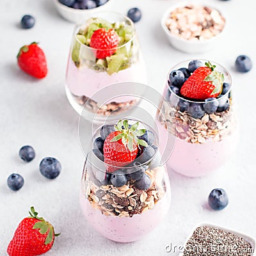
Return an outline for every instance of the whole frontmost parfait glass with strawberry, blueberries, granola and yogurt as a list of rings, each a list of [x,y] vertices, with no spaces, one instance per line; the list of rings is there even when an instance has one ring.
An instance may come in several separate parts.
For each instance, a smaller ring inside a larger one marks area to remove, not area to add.
[[[81,180],[86,220],[113,241],[136,241],[170,207],[170,180],[160,164],[159,138],[149,125],[125,119],[101,125],[92,136]]]

